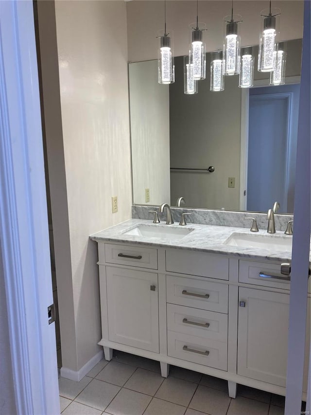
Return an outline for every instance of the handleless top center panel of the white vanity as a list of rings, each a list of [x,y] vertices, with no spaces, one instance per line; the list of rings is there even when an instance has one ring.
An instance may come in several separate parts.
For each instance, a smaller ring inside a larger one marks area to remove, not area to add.
[[[166,250],[166,271],[228,280],[229,259],[203,252],[169,249]]]

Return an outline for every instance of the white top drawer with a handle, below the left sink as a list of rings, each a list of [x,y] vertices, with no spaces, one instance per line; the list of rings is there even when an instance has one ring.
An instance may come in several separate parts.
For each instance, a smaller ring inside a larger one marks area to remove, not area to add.
[[[157,250],[140,246],[98,244],[99,262],[157,270]]]

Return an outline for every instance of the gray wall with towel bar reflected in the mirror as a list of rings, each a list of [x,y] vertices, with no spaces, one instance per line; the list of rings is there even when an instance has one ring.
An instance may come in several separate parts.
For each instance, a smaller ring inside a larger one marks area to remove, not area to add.
[[[207,76],[209,76],[207,54]],[[171,172],[171,202],[210,209],[239,209],[241,89],[238,76],[225,77],[225,90],[211,92],[209,79],[198,93],[185,95],[183,57],[175,58],[175,83],[170,85],[171,167],[215,167],[214,173]],[[235,188],[228,178],[235,177]]]

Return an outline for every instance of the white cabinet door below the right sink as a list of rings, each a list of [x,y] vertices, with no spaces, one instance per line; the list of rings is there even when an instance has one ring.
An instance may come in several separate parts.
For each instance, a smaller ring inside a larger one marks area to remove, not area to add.
[[[245,307],[241,307],[241,301],[245,302]],[[289,301],[288,294],[239,288],[239,375],[286,386]],[[308,310],[310,313],[310,299]],[[306,338],[310,339],[310,318]],[[310,344],[309,341],[306,343]],[[306,359],[305,368],[307,365]]]

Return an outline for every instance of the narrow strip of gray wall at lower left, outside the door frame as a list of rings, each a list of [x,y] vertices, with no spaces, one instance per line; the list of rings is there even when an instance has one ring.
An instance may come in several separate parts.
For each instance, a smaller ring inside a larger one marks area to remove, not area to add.
[[[0,414],[15,415],[15,395],[12,374],[8,314],[0,250]]]

